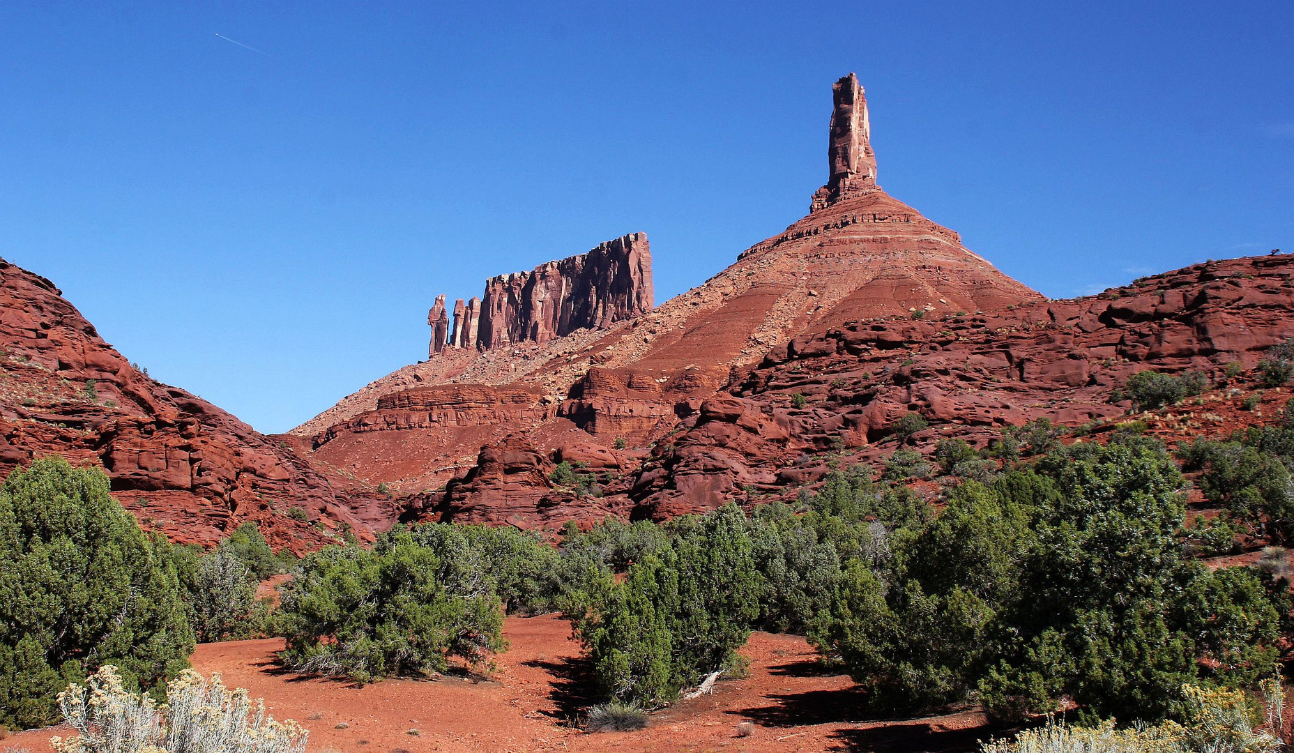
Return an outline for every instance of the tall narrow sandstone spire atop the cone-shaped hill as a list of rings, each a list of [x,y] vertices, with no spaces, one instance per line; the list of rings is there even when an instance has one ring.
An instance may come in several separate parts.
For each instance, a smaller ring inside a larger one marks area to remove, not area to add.
[[[827,142],[831,173],[827,185],[814,194],[811,211],[879,188],[867,96],[858,76],[849,74],[836,82],[832,100],[831,136]]]

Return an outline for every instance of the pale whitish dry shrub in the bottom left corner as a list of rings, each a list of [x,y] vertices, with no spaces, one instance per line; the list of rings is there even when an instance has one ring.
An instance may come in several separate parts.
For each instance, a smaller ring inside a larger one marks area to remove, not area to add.
[[[228,690],[220,675],[186,669],[166,686],[164,706],[126,690],[115,668],[58,693],[63,719],[76,732],[52,740],[58,753],[304,753],[309,732],[276,722],[265,703]]]

